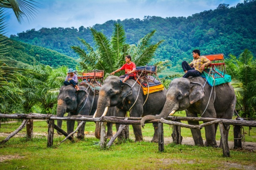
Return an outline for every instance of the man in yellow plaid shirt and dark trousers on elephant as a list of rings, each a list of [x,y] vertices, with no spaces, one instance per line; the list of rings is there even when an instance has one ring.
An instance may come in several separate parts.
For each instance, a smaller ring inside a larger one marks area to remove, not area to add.
[[[207,67],[212,63],[206,57],[204,56],[201,57],[200,51],[197,49],[193,50],[192,54],[194,58],[192,62],[188,64],[186,61],[183,61],[181,64],[183,71],[185,72],[183,76],[184,78],[188,78],[189,76],[192,76],[192,77],[200,76],[204,70],[204,67]]]

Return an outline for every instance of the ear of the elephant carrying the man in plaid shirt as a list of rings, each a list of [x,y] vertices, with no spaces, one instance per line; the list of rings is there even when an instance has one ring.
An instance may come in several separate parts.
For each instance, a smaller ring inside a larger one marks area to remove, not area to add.
[[[204,97],[204,87],[201,83],[190,82],[189,103],[193,104]]]

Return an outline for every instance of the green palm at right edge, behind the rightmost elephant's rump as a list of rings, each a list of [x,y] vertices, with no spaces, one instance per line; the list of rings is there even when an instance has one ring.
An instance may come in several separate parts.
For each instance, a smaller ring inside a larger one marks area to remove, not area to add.
[[[243,117],[254,117],[256,111],[256,59],[245,49],[238,59],[230,55],[226,60],[227,73],[242,84],[244,91],[237,94],[237,105]]]

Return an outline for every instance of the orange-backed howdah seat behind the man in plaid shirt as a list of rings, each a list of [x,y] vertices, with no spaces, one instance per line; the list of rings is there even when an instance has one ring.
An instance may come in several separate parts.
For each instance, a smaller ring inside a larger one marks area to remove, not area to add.
[[[226,67],[224,63],[224,54],[210,54],[202,56],[207,57],[207,59],[212,62],[212,64],[204,68],[204,71],[207,72],[207,74],[214,78],[223,78],[225,76]]]

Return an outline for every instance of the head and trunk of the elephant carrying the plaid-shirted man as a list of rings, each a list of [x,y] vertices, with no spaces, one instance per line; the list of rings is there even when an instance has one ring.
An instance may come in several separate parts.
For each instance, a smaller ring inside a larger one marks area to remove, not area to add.
[[[141,126],[145,121],[154,119],[165,119],[175,111],[183,111],[204,97],[204,88],[201,83],[190,82],[187,78],[174,79],[169,85],[166,93],[166,103],[159,115],[148,115],[142,118]]]

